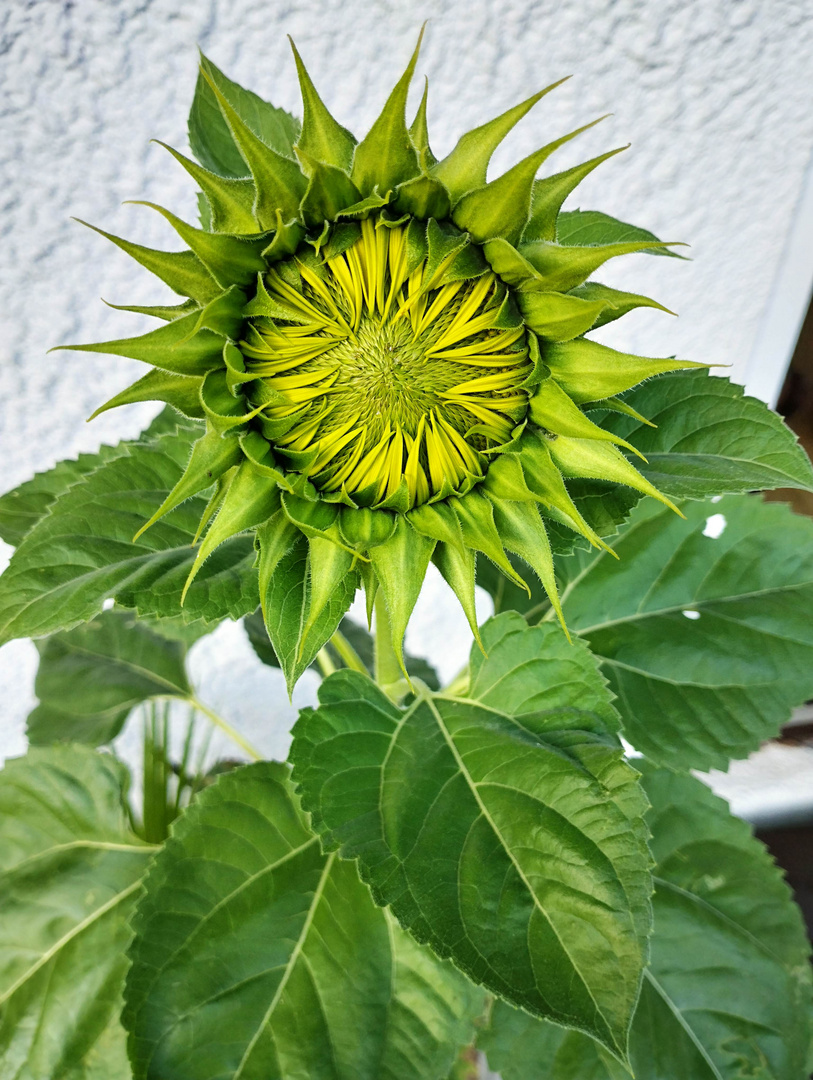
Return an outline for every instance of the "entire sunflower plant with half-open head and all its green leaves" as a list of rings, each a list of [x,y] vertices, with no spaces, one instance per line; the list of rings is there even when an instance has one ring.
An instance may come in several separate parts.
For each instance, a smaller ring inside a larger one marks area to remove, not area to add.
[[[594,273],[678,252],[563,210],[618,149],[539,175],[591,123],[489,175],[559,83],[438,159],[419,48],[361,141],[296,48],[301,122],[202,57],[166,147],[200,221],[146,204],[186,246],[93,226],[178,302],[63,347],[145,362],[97,413],[150,428],[0,499],[0,642],[40,653],[0,773],[3,1075],[804,1072],[799,913],[691,771],[813,694],[813,526],[753,494],[813,470],[702,360],[590,336],[662,309]],[[474,638],[445,686],[404,651],[430,563]],[[190,680],[229,618],[322,680],[286,764]]]

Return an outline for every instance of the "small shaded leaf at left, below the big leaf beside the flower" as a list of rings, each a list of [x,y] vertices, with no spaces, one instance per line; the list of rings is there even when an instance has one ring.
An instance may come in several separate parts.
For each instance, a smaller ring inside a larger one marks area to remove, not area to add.
[[[110,742],[132,708],[149,698],[191,693],[186,648],[153,633],[132,613],[103,611],[76,630],[38,643],[39,705],[28,717],[28,741],[43,746]]]

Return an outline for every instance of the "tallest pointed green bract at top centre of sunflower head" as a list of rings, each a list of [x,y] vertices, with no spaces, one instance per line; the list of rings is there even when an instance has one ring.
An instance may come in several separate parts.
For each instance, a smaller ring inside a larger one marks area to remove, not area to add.
[[[372,194],[376,189],[383,194],[420,172],[418,154],[406,125],[406,99],[422,39],[423,30],[381,114],[355,148],[352,177],[364,195]]]

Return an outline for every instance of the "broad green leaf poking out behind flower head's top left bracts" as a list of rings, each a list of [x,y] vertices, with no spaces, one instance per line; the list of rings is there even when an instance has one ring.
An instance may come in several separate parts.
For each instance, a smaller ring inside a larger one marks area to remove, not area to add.
[[[294,158],[294,144],[299,137],[299,121],[295,117],[232,82],[209,59],[206,71],[241,120],[266,146]],[[248,176],[248,166],[202,73],[198,76],[189,112],[189,145],[200,163],[213,173],[232,178]]]

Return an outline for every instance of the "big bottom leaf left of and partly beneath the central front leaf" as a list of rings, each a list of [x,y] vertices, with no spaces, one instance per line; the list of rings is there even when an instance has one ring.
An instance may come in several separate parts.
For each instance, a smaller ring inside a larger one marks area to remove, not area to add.
[[[439,1080],[483,995],[323,854],[284,766],[222,777],[176,825],[134,919],[136,1078]]]

